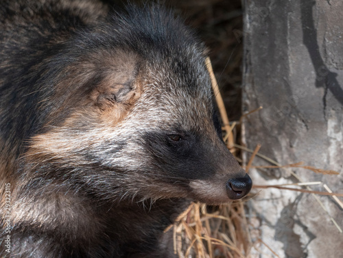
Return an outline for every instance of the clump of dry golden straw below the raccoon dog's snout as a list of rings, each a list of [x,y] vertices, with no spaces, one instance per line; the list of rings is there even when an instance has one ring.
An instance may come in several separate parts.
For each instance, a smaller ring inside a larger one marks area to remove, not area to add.
[[[248,222],[242,212],[244,203],[221,205],[214,213],[209,213],[207,208],[194,203],[188,214],[176,222],[174,241],[178,243],[174,244],[175,253],[179,257],[247,258],[252,244]]]

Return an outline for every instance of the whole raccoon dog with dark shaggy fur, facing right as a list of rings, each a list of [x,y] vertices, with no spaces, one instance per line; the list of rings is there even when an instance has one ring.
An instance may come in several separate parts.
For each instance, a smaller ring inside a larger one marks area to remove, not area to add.
[[[1,257],[173,257],[191,201],[249,192],[170,12],[3,0],[0,21]]]

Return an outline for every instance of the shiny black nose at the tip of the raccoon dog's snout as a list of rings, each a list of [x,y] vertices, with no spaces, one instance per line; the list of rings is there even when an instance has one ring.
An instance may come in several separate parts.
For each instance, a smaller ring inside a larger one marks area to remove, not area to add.
[[[252,181],[248,174],[237,179],[230,179],[226,182],[226,193],[231,200],[237,200],[250,192]]]

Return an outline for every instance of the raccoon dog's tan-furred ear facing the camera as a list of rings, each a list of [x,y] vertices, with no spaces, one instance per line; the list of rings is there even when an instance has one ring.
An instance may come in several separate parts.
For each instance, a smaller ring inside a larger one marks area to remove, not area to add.
[[[141,95],[138,83],[139,58],[117,51],[99,64],[100,79],[91,91],[93,104],[102,110],[126,109]]]

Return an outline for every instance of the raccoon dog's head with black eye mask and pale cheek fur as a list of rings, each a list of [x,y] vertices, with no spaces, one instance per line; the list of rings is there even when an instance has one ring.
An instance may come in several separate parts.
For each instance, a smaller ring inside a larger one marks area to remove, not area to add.
[[[245,196],[252,183],[221,140],[203,53],[156,6],[128,8],[83,31],[46,79],[56,107],[28,157],[108,200]]]

